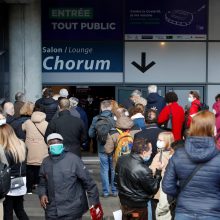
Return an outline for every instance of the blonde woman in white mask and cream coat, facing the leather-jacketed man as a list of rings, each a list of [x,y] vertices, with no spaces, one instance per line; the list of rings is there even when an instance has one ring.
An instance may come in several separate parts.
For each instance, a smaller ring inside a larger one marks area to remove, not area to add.
[[[165,132],[161,132],[158,135],[158,139],[157,139],[158,153],[156,154],[156,156],[152,161],[152,164],[150,165],[150,168],[152,169],[153,173],[155,173],[157,163],[158,161],[160,161],[164,165],[162,169],[162,177],[163,177],[169,159],[174,153],[173,149],[171,148],[171,144],[173,142],[174,142],[174,136],[172,132],[165,131]],[[152,199],[151,204],[152,204],[153,216],[156,216],[157,220],[171,219],[169,204],[168,201],[166,200],[166,196],[164,196],[161,187],[157,192],[157,194]]]

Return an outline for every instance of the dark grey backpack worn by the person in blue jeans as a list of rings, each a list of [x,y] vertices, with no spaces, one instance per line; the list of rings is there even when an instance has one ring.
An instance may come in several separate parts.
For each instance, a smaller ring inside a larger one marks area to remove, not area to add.
[[[115,126],[115,121],[111,117],[99,116],[95,125],[97,140],[104,145],[111,128]]]

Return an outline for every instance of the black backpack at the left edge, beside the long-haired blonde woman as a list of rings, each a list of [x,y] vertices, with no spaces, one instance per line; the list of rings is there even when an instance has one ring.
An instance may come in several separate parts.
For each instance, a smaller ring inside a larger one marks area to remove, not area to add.
[[[0,162],[0,199],[4,198],[11,186],[11,168]]]

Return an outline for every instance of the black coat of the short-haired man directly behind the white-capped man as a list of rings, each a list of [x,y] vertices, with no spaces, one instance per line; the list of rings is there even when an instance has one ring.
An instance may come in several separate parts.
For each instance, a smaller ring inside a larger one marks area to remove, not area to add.
[[[72,116],[68,110],[59,112],[59,117],[49,123],[45,139],[51,133],[61,134],[66,150],[81,156],[81,143],[87,140],[87,132],[81,119]]]

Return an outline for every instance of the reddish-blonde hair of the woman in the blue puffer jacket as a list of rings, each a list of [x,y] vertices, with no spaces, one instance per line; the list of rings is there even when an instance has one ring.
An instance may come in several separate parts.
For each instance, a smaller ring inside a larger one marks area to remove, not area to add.
[[[189,128],[189,136],[214,136],[215,115],[210,111],[200,111],[194,117]]]

